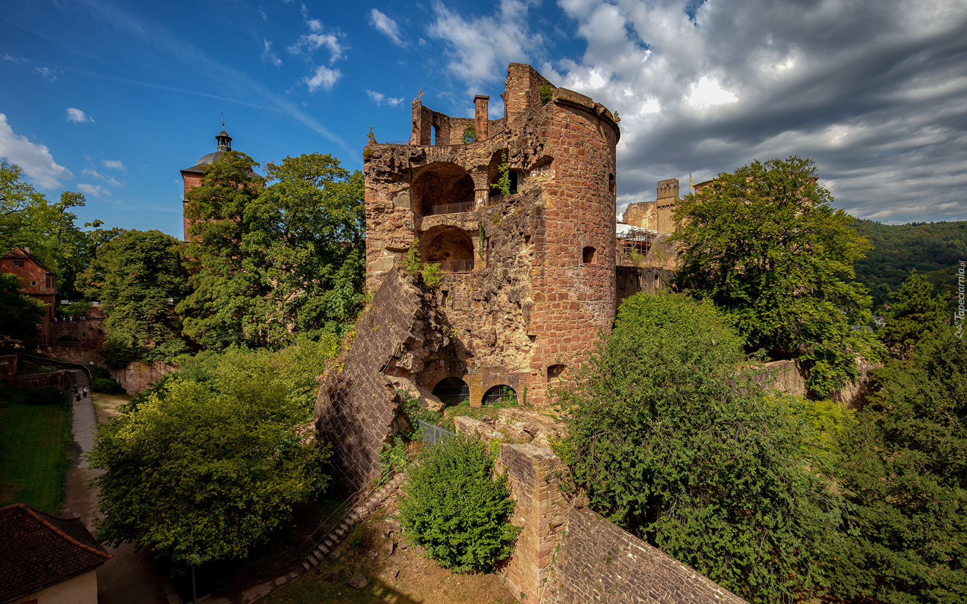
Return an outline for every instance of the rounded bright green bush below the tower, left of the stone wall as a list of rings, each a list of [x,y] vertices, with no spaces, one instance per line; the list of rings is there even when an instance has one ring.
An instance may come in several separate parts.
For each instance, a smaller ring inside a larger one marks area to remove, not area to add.
[[[509,521],[506,473],[491,476],[495,459],[479,440],[458,434],[407,470],[400,524],[455,572],[489,571],[513,553],[520,530]]]

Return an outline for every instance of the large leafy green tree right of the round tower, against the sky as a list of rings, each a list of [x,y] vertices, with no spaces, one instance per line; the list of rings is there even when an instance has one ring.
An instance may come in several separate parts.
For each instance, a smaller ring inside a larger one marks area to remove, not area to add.
[[[673,237],[675,283],[723,309],[748,349],[798,354],[820,397],[857,380],[858,356],[881,355],[852,280],[869,244],[832,202],[812,160],[753,161],[686,196]]]

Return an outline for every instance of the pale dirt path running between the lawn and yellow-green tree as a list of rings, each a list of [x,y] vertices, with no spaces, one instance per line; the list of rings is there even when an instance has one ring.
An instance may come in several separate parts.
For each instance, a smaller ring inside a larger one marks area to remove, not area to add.
[[[102,470],[88,467],[83,455],[94,446],[94,425],[106,423],[117,413],[114,409],[124,402],[127,396],[115,394],[94,394],[82,399],[73,406],[73,440],[80,447],[81,456],[74,462],[67,475],[64,511],[71,516],[79,516],[87,529],[95,533],[94,519],[99,518],[98,489],[90,482]],[[97,411],[95,411],[97,408]],[[167,604],[165,593],[170,590],[170,582],[155,567],[148,548],[135,552],[130,543],[118,548],[105,548],[113,558],[104,562],[98,569],[98,604]]]

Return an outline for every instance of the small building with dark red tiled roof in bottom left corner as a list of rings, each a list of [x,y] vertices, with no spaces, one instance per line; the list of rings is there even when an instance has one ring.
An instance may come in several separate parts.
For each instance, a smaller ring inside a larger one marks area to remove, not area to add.
[[[110,558],[79,518],[0,508],[0,604],[97,604],[97,569]]]

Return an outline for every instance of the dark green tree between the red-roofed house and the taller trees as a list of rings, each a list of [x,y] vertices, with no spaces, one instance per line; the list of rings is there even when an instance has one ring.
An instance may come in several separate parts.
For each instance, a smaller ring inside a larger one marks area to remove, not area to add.
[[[84,296],[101,301],[107,315],[103,352],[112,366],[189,352],[175,312],[190,293],[181,246],[161,231],[125,231],[102,244],[78,277]]]

